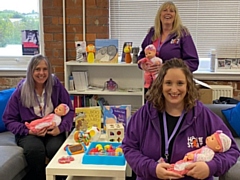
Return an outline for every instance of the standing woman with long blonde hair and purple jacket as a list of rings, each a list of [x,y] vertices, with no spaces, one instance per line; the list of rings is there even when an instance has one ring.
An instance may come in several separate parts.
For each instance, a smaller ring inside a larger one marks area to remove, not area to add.
[[[156,47],[157,57],[161,58],[163,63],[171,58],[181,58],[191,72],[198,69],[198,53],[192,36],[188,29],[182,25],[178,9],[173,2],[165,2],[159,7],[154,26],[150,28],[142,42],[142,50],[138,60],[145,57],[144,49],[149,44]],[[158,73],[161,69],[161,65],[147,63],[141,63],[139,67],[152,73]],[[149,84],[144,85],[145,92],[150,86]]]

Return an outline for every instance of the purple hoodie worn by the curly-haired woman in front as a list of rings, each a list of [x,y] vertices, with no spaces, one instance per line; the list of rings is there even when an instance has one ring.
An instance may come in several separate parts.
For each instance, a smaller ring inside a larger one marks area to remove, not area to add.
[[[170,163],[181,160],[184,155],[196,150],[191,139],[197,138],[199,146],[205,146],[207,136],[217,130],[222,130],[232,139],[230,149],[224,153],[216,153],[213,160],[207,162],[210,176],[206,180],[213,180],[213,175],[220,176],[232,167],[240,156],[239,149],[231,132],[224,122],[201,102],[187,112],[179,133],[173,142]],[[158,111],[149,102],[142,106],[130,119],[123,140],[123,151],[128,164],[137,174],[137,180],[158,179],[156,166],[162,154],[163,138],[160,132]],[[185,176],[183,180],[194,178]]]

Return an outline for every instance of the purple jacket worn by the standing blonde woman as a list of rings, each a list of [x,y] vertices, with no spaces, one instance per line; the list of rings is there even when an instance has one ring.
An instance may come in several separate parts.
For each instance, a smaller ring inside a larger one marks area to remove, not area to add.
[[[145,57],[145,47],[153,44],[153,34],[154,28],[152,27],[142,42],[142,50],[139,53],[138,60]],[[172,34],[163,42],[160,49],[156,47],[159,52],[158,57],[163,60],[163,63],[172,58],[181,58],[188,65],[191,72],[196,71],[199,65],[199,58],[192,36],[190,34],[184,35],[179,39],[179,42],[173,43],[176,37],[176,35]]]

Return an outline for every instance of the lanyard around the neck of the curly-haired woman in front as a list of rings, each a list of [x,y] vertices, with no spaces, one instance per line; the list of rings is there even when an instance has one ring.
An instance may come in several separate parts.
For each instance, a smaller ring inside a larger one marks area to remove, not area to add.
[[[165,111],[163,112],[163,125],[164,125],[164,137],[165,137],[165,158],[166,158],[166,160],[168,160],[168,156],[169,156],[169,153],[168,153],[169,144],[170,144],[172,138],[174,137],[174,135],[176,134],[176,132],[177,132],[182,120],[183,120],[184,114],[185,114],[185,111],[182,112],[182,114],[179,117],[178,122],[177,122],[170,138],[168,139],[166,112]]]

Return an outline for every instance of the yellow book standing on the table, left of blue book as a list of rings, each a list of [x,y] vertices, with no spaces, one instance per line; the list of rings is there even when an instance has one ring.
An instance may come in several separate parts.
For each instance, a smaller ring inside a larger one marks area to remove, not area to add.
[[[101,129],[102,115],[100,106],[77,107],[75,108],[75,114],[75,126],[77,130],[80,130],[83,124],[87,128],[96,126]]]

